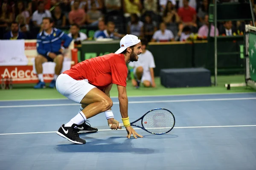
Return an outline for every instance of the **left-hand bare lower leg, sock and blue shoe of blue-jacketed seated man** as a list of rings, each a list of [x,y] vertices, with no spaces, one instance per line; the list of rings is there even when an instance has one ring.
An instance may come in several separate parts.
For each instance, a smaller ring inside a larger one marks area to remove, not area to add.
[[[42,55],[35,57],[35,70],[38,74],[39,82],[34,88],[45,88],[44,77],[43,77],[43,63],[47,62],[47,58]]]

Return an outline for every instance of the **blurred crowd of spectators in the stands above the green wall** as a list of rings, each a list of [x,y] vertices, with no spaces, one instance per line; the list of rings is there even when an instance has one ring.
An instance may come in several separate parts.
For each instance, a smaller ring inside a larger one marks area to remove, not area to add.
[[[68,28],[76,43],[88,40],[80,28],[96,29],[94,39],[134,34],[148,42],[186,41],[191,34],[214,36],[208,0],[0,0],[0,39],[35,39],[42,19]],[[244,32],[245,21],[219,22],[217,35]]]

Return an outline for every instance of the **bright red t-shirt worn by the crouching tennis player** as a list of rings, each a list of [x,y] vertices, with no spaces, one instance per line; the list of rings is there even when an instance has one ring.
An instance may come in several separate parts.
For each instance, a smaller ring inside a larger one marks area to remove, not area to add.
[[[76,80],[87,79],[102,90],[112,83],[126,87],[128,69],[124,54],[111,53],[79,62],[63,73]]]

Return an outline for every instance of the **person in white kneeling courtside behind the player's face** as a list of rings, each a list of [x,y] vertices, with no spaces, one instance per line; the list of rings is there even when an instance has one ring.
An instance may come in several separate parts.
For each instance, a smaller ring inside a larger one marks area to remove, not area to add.
[[[146,50],[148,42],[146,39],[141,39],[142,53],[137,62],[129,62],[128,68],[131,73],[132,85],[136,88],[140,87],[140,82],[145,87],[156,87],[154,81],[154,57],[152,53]]]

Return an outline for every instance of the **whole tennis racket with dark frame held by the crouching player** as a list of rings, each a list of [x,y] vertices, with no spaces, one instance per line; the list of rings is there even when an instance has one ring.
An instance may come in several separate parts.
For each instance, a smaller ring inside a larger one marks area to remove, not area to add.
[[[130,123],[148,133],[161,135],[171,131],[175,125],[175,117],[171,111],[165,108],[155,108],[145,113],[142,117]],[[123,123],[119,126],[124,127]],[[109,125],[111,127],[111,125]]]

